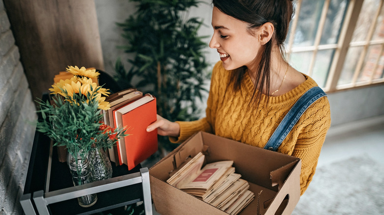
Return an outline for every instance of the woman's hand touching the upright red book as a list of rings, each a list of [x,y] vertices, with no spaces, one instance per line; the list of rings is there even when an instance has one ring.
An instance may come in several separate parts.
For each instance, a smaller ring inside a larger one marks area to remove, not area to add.
[[[167,119],[162,118],[159,114],[157,115],[156,122],[152,123],[147,127],[147,132],[152,132],[158,129],[158,134],[161,136],[179,136],[180,125],[176,122],[171,122]]]

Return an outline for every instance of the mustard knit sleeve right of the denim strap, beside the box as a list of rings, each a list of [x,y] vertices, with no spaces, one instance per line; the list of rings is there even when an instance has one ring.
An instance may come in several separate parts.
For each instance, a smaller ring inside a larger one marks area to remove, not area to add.
[[[315,105],[316,104],[316,105]],[[307,109],[303,115],[303,128],[298,135],[292,156],[301,159],[300,193],[308,188],[315,174],[320,150],[325,140],[325,135],[330,127],[330,109],[328,99],[323,97]]]

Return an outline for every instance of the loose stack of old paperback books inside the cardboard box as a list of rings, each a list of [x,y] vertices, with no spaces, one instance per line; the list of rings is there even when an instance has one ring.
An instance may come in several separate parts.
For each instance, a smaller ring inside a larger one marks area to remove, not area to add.
[[[167,183],[228,214],[239,214],[255,198],[249,183],[235,173],[233,161],[217,161],[203,167],[204,160],[199,152],[174,171]]]

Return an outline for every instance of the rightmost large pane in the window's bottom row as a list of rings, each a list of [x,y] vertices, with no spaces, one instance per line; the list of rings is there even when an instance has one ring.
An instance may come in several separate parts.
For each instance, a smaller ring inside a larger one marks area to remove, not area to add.
[[[364,64],[357,81],[370,81],[376,62],[382,54],[382,45],[372,45],[365,56]],[[381,73],[380,73],[381,75]],[[380,76],[379,75],[379,76]]]

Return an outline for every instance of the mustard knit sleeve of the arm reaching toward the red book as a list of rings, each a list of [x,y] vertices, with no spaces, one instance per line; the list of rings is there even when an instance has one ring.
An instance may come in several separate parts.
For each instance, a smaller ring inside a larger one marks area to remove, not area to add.
[[[195,134],[199,131],[204,131],[207,133],[214,133],[215,131],[215,115],[216,115],[216,108],[218,104],[218,86],[219,84],[219,78],[218,78],[218,72],[222,68],[222,62],[219,61],[216,63],[215,67],[212,71],[212,78],[211,78],[211,85],[208,95],[208,101],[207,101],[207,108],[205,110],[206,117],[191,121],[191,122],[182,122],[182,121],[176,121],[180,125],[180,135],[178,137],[170,136],[169,140],[173,143],[181,143],[184,140],[188,139],[190,136]]]

